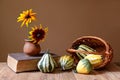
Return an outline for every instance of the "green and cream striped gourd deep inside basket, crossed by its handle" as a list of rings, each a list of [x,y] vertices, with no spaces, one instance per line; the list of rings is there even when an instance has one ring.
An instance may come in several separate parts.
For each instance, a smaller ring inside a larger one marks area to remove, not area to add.
[[[77,50],[80,50],[80,51],[86,51],[86,52],[96,52],[95,49],[87,46],[87,45],[84,45],[84,44],[81,44]],[[82,53],[78,53],[76,52],[77,56],[79,57],[79,59],[84,59],[85,56],[87,56],[86,53],[82,52]]]

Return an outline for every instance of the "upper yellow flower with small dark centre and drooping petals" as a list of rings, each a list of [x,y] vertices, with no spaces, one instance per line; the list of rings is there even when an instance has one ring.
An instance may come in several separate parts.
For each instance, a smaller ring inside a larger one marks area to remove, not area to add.
[[[36,13],[32,12],[32,9],[23,11],[22,13],[20,13],[20,16],[17,18],[18,19],[17,22],[22,21],[21,27],[24,24],[26,24],[26,26],[28,27],[28,24],[31,23],[32,20],[34,21],[36,19],[35,14]]]

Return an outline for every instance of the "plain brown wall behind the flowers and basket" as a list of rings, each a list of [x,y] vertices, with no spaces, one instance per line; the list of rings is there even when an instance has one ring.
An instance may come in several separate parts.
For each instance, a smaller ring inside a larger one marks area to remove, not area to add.
[[[113,61],[120,60],[120,0],[0,0],[0,61],[8,53],[22,52],[27,33],[16,18],[30,8],[37,13],[31,26],[49,27],[42,50],[67,54],[73,40],[94,35],[111,44]]]

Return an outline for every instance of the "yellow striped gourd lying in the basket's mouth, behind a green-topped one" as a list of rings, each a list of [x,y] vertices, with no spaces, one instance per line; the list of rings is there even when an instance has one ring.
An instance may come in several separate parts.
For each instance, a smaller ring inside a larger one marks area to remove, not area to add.
[[[89,54],[85,57],[92,64],[93,68],[100,66],[103,63],[102,55]]]

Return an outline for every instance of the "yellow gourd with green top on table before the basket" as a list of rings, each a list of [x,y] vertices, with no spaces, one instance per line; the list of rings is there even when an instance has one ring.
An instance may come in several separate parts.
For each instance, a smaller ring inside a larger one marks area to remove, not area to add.
[[[92,70],[92,65],[88,59],[82,59],[78,62],[76,71],[77,73],[88,74]]]

